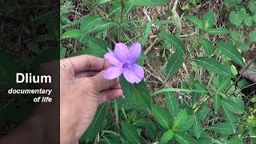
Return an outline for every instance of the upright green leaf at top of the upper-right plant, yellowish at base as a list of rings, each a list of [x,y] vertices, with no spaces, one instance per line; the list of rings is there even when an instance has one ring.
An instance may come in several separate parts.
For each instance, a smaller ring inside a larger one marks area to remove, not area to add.
[[[203,25],[203,30],[208,30],[214,26],[215,23],[215,16],[214,16],[214,11],[209,11],[207,12],[203,17],[202,17],[202,25]]]

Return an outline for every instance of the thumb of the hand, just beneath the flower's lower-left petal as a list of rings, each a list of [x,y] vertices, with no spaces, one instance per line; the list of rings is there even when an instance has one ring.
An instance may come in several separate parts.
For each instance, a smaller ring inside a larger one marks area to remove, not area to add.
[[[95,90],[98,92],[102,90],[109,90],[110,86],[113,86],[116,82],[118,82],[117,78],[114,79],[106,79],[104,78],[105,70],[102,70],[100,73],[96,74],[94,77],[91,77],[91,79],[94,81]]]

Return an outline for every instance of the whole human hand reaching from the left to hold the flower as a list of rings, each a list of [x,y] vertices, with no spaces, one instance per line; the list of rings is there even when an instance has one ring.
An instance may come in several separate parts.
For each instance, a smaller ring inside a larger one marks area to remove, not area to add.
[[[61,143],[77,143],[98,105],[122,95],[118,79],[103,77],[102,70],[109,66],[105,59],[90,55],[60,61]]]

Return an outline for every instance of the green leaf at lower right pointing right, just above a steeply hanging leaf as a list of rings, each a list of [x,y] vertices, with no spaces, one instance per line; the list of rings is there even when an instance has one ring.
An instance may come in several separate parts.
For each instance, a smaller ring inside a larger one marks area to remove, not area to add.
[[[225,107],[227,110],[230,110],[234,114],[241,114],[243,106],[238,105],[236,102],[231,101],[230,99],[221,100],[222,107]]]

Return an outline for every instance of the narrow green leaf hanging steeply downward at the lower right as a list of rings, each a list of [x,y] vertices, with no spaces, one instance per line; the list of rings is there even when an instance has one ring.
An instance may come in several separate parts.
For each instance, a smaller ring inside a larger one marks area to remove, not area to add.
[[[238,122],[237,119],[234,118],[234,114],[230,113],[230,111],[227,110],[225,106],[223,106],[222,108],[226,118],[226,123],[229,125],[229,127],[232,128],[233,133],[235,133],[237,129],[237,122]]]

